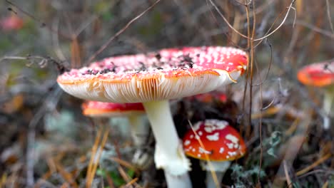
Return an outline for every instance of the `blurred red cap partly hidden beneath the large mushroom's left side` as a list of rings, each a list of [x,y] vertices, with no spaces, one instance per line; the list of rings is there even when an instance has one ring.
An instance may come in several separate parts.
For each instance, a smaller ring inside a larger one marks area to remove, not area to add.
[[[103,103],[86,101],[81,105],[83,115],[91,117],[116,117],[145,113],[142,103]]]

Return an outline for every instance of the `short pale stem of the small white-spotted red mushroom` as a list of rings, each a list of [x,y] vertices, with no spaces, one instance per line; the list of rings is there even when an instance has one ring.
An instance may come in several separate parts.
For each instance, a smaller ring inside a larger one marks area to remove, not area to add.
[[[230,167],[231,162],[224,161],[224,162],[210,162],[210,163],[211,164],[201,161],[202,167],[206,169],[206,187],[207,188],[221,187],[221,180],[223,179],[223,176],[228,167]],[[213,177],[213,173],[216,174],[216,178]],[[215,179],[217,180],[217,182],[215,181]]]

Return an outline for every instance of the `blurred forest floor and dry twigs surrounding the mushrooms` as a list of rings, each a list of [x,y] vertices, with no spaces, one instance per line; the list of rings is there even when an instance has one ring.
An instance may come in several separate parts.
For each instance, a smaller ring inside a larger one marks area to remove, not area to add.
[[[0,187],[84,187],[98,124],[112,128],[93,187],[166,187],[152,164],[131,164],[126,120],[84,117],[83,101],[56,78],[109,56],[211,45],[247,51],[248,72],[221,88],[227,100],[174,101],[179,135],[188,120],[208,117],[241,131],[248,153],[228,169],[225,187],[334,187],[324,91],[296,77],[334,61],[333,24],[328,0],[0,1]],[[194,187],[204,187],[192,162]]]

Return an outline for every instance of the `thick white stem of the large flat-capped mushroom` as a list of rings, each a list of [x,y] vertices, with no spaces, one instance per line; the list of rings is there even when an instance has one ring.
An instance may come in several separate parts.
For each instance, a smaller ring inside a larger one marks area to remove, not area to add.
[[[154,160],[165,172],[168,187],[191,187],[190,163],[183,152],[168,100],[143,103],[156,139]]]

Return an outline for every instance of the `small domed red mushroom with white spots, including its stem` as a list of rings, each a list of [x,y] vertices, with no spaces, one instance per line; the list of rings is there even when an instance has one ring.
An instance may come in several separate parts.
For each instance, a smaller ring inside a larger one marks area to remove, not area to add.
[[[196,134],[194,133],[196,132]],[[199,141],[201,140],[201,142]],[[232,160],[243,157],[246,145],[237,130],[225,120],[205,120],[193,125],[183,137],[183,148],[189,157],[201,160],[206,169],[206,187],[216,187],[211,170],[221,182]],[[210,164],[205,164],[209,160]]]

